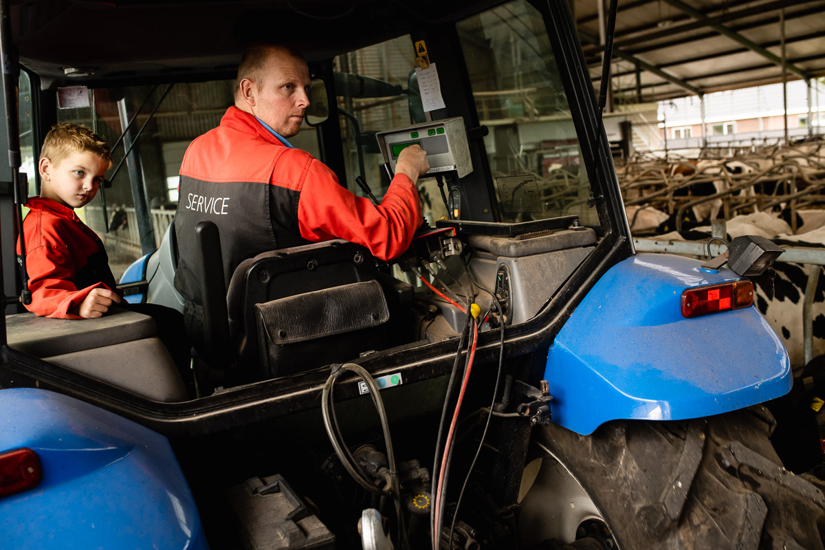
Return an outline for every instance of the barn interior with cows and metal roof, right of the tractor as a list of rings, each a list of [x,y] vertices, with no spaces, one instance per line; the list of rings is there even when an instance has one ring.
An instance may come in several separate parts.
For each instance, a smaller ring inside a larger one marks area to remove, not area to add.
[[[717,256],[757,234],[784,249],[756,303],[790,354],[775,416],[825,437],[823,2],[620,2],[605,127],[638,252]],[[594,87],[606,6],[575,2]],[[793,404],[791,404],[793,402]],[[814,428],[818,426],[818,428]],[[793,433],[790,433],[793,432]],[[785,463],[810,467],[780,430]]]

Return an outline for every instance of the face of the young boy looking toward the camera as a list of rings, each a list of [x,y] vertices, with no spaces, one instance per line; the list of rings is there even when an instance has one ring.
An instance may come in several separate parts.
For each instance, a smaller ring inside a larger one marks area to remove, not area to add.
[[[40,159],[40,196],[69,208],[81,208],[95,198],[111,163],[95,153],[77,151],[56,164]]]

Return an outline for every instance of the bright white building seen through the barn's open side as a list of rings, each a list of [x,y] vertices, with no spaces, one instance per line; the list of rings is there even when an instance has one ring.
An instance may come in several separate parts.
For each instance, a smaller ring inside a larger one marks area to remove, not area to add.
[[[825,84],[812,80],[810,106],[803,80],[788,82],[788,137],[822,134]],[[668,149],[702,146],[699,96],[661,101],[659,130]],[[705,138],[709,145],[775,143],[785,138],[782,83],[705,94]]]

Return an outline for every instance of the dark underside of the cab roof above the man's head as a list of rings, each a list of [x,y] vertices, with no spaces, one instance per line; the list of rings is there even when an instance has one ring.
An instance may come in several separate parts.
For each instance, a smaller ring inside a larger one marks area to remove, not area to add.
[[[12,2],[12,40],[43,88],[233,78],[245,45],[280,40],[311,63],[499,2],[35,0]],[[75,76],[68,76],[73,74]]]

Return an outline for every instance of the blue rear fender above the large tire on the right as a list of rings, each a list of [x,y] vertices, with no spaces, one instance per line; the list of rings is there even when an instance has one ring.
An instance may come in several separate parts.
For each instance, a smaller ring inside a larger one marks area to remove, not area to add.
[[[700,261],[643,254],[613,266],[550,346],[553,421],[587,435],[617,419],[680,420],[790,391],[790,360],[753,306],[681,316],[681,293],[737,280]]]

